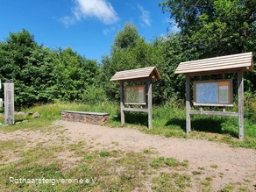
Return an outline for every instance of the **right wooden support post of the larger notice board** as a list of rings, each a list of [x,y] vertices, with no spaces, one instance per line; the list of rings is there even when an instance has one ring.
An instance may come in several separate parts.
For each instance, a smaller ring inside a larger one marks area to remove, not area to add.
[[[244,78],[243,71],[238,71],[238,124],[239,139],[244,139]]]

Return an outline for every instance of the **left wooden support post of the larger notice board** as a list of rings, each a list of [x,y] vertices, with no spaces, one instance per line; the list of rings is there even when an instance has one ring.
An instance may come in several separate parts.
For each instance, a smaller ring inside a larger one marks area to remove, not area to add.
[[[186,131],[189,133],[191,130],[190,122],[190,88],[189,88],[189,76],[186,75]]]

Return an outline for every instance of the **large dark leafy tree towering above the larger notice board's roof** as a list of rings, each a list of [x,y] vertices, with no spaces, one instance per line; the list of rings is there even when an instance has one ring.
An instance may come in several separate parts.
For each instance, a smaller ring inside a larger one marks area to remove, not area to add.
[[[170,0],[162,11],[181,27],[182,48],[201,58],[255,51],[254,0]]]

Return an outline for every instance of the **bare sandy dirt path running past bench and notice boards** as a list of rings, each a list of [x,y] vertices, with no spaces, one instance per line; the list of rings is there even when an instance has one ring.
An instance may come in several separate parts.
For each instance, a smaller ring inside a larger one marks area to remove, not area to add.
[[[23,139],[30,146],[38,142],[61,144],[63,140],[68,143],[84,140],[93,145],[94,149],[100,150],[114,147],[117,150],[142,152],[152,148],[158,152],[158,156],[188,160],[189,174],[192,170],[203,167],[204,177],[209,175],[214,178],[211,182],[213,191],[218,191],[230,183],[240,183],[249,191],[256,191],[256,150],[232,148],[225,144],[199,139],[165,138],[132,128],[110,128],[61,120],[54,122],[54,125],[64,128],[53,129],[51,132],[0,131],[0,139]],[[77,162],[75,158],[68,158],[66,153],[60,153],[59,158],[68,162],[69,166]],[[191,190],[197,191],[196,185],[192,185]]]

